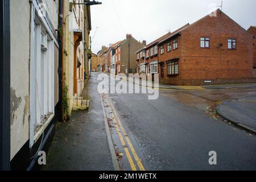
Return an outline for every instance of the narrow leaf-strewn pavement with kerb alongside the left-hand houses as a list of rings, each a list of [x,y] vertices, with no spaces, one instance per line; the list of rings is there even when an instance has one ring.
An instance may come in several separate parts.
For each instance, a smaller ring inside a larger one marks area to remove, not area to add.
[[[69,122],[58,123],[42,170],[119,170],[96,75],[89,84],[89,110],[73,111]]]

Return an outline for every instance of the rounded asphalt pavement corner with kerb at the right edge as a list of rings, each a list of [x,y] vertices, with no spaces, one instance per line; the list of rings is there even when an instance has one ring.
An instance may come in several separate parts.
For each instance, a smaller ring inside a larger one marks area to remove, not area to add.
[[[224,101],[217,106],[217,113],[234,125],[256,134],[256,97]]]

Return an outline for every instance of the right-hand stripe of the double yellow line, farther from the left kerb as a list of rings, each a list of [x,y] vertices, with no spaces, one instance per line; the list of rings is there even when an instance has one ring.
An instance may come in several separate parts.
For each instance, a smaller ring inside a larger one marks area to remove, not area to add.
[[[106,96],[106,97],[108,97],[108,96]],[[126,134],[126,131],[125,131],[125,129],[123,128],[123,125],[122,125],[122,123],[121,123],[121,121],[120,121],[120,119],[119,119],[119,117],[118,117],[118,115],[117,115],[117,113],[116,113],[116,111],[115,111],[115,109],[114,109],[114,106],[113,106],[113,104],[112,104],[112,101],[110,101],[110,98],[109,98],[109,97],[108,97],[107,99],[108,99],[108,101],[109,101],[109,104],[110,104],[111,107],[113,108],[115,118],[117,118],[118,124],[119,124],[119,126],[120,126],[120,128],[121,128],[121,130],[122,130],[122,132],[123,132],[123,135],[125,136],[125,139],[126,139],[128,145],[129,145],[129,147],[130,147],[131,153],[133,154],[134,159],[136,160],[136,162],[137,162],[137,164],[138,164],[138,166],[139,166],[139,169],[140,169],[141,171],[145,171],[144,166],[143,166],[143,164],[142,164],[142,162],[141,162],[141,159],[139,159],[139,157],[138,157],[138,155],[137,155],[137,152],[135,151],[135,149],[134,149],[134,147],[133,147],[133,144],[131,144],[131,141],[130,141],[128,135]],[[112,112],[112,114],[113,114],[113,112]]]

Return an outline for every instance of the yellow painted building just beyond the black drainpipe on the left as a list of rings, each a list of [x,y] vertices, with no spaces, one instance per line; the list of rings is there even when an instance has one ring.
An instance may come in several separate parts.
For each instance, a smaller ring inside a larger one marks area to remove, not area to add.
[[[69,119],[82,94],[90,59],[90,7],[82,0],[64,1],[63,15],[63,111]]]

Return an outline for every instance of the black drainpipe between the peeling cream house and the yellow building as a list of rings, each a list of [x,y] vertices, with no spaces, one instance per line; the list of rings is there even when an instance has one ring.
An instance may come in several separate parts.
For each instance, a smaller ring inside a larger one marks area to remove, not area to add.
[[[59,120],[63,121],[63,0],[59,1]]]

